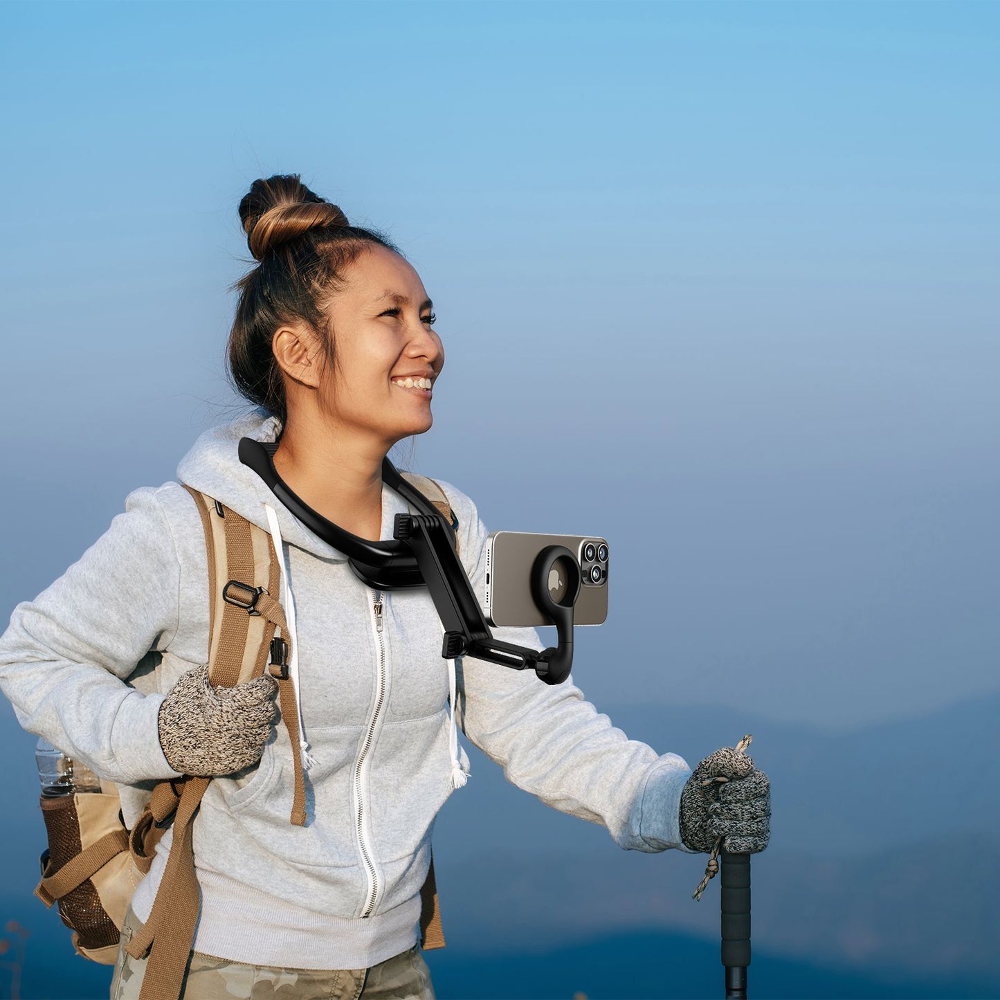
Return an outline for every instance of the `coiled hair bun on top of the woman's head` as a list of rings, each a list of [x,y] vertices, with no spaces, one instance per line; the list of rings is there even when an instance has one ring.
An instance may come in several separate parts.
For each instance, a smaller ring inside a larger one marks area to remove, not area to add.
[[[240,222],[255,260],[310,229],[350,225],[336,205],[310,191],[298,174],[254,181],[240,202]]]

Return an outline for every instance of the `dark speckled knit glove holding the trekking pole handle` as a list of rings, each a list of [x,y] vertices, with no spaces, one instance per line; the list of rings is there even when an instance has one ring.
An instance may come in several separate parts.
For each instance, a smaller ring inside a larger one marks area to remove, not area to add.
[[[693,851],[711,852],[719,837],[733,854],[767,847],[771,786],[753,759],[723,747],[706,757],[681,792],[681,840]]]

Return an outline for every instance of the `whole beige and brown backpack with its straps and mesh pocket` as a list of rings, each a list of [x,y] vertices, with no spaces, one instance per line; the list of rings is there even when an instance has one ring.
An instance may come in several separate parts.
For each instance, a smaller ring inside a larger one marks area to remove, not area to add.
[[[403,475],[457,528],[448,499],[434,480]],[[219,501],[189,486],[185,489],[201,515],[208,551],[211,682],[231,687],[267,670],[278,682],[281,717],[291,745],[298,747],[298,710],[288,675],[288,626],[284,610],[271,596],[279,593],[281,575],[271,537]],[[295,792],[290,821],[303,826],[302,760],[298,753],[292,760]],[[73,930],[78,954],[106,965],[116,961],[136,886],[149,871],[160,838],[173,827],[170,855],[149,919],[126,949],[135,958],[149,955],[140,1000],[177,1000],[181,992],[200,904],[192,824],[210,781],[186,776],[160,782],[131,830],[125,827],[118,790],[110,782],[101,782],[100,793],[41,799],[49,849],[42,856],[42,880],[35,895],[46,906],[58,903],[63,923]],[[421,901],[421,945],[443,948],[433,859]]]

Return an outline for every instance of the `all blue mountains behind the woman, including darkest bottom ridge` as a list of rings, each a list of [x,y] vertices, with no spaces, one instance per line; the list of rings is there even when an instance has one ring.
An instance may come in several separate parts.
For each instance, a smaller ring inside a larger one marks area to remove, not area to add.
[[[106,970],[73,956],[31,896],[44,840],[34,740],[0,710],[0,926],[14,918],[34,934],[22,995],[106,996]],[[692,764],[754,733],[751,752],[773,781],[774,834],[752,863],[751,996],[998,995],[1000,696],[839,733],[714,708],[608,714]],[[690,899],[703,856],[620,851],[600,827],[542,806],[470,754],[472,778],[435,831],[449,948],[429,961],[442,1000],[721,995],[718,883]],[[7,982],[0,971],[0,997]]]

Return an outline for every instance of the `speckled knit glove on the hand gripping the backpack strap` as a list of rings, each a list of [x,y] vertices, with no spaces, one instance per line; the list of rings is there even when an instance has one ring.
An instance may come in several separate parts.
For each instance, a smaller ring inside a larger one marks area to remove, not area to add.
[[[167,763],[203,778],[256,764],[278,712],[277,689],[267,674],[236,687],[213,688],[207,666],[189,670],[160,706],[160,746]]]

